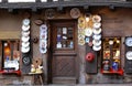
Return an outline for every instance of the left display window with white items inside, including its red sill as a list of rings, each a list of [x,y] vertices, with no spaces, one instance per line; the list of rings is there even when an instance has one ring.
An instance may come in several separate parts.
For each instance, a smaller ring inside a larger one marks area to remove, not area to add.
[[[20,51],[19,51],[19,41],[1,41],[0,51],[2,67],[0,73],[16,73],[20,74]]]

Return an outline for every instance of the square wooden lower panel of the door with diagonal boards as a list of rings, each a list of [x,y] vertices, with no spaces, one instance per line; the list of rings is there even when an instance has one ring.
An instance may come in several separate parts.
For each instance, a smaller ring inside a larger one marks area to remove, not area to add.
[[[74,56],[55,56],[53,60],[53,77],[72,77],[76,74]]]

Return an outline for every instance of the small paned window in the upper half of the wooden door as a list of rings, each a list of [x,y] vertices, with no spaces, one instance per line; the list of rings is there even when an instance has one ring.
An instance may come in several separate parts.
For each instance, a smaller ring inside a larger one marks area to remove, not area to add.
[[[73,33],[73,28],[57,28],[56,49],[74,49]]]

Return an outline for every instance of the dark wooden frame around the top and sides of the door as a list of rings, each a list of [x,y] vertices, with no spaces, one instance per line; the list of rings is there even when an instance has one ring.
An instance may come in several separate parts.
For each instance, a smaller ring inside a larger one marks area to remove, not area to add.
[[[75,69],[76,69],[76,74],[75,74],[75,77],[76,77],[76,83],[78,83],[78,79],[79,79],[79,61],[78,61],[78,52],[77,52],[77,49],[78,49],[78,41],[77,41],[77,33],[78,33],[78,29],[77,29],[77,20],[50,20],[48,21],[48,57],[47,57],[47,83],[51,84],[52,83],[52,78],[53,78],[53,75],[52,75],[52,57],[53,57],[53,47],[52,47],[52,26],[53,26],[53,23],[58,23],[58,22],[74,22],[74,28],[75,28],[75,53],[76,53],[76,58],[75,58]]]

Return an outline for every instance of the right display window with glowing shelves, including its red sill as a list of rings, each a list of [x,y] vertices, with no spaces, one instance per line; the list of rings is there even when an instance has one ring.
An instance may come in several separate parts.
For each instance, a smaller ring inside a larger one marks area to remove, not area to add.
[[[123,74],[121,68],[121,37],[105,37],[102,51],[103,74]]]

